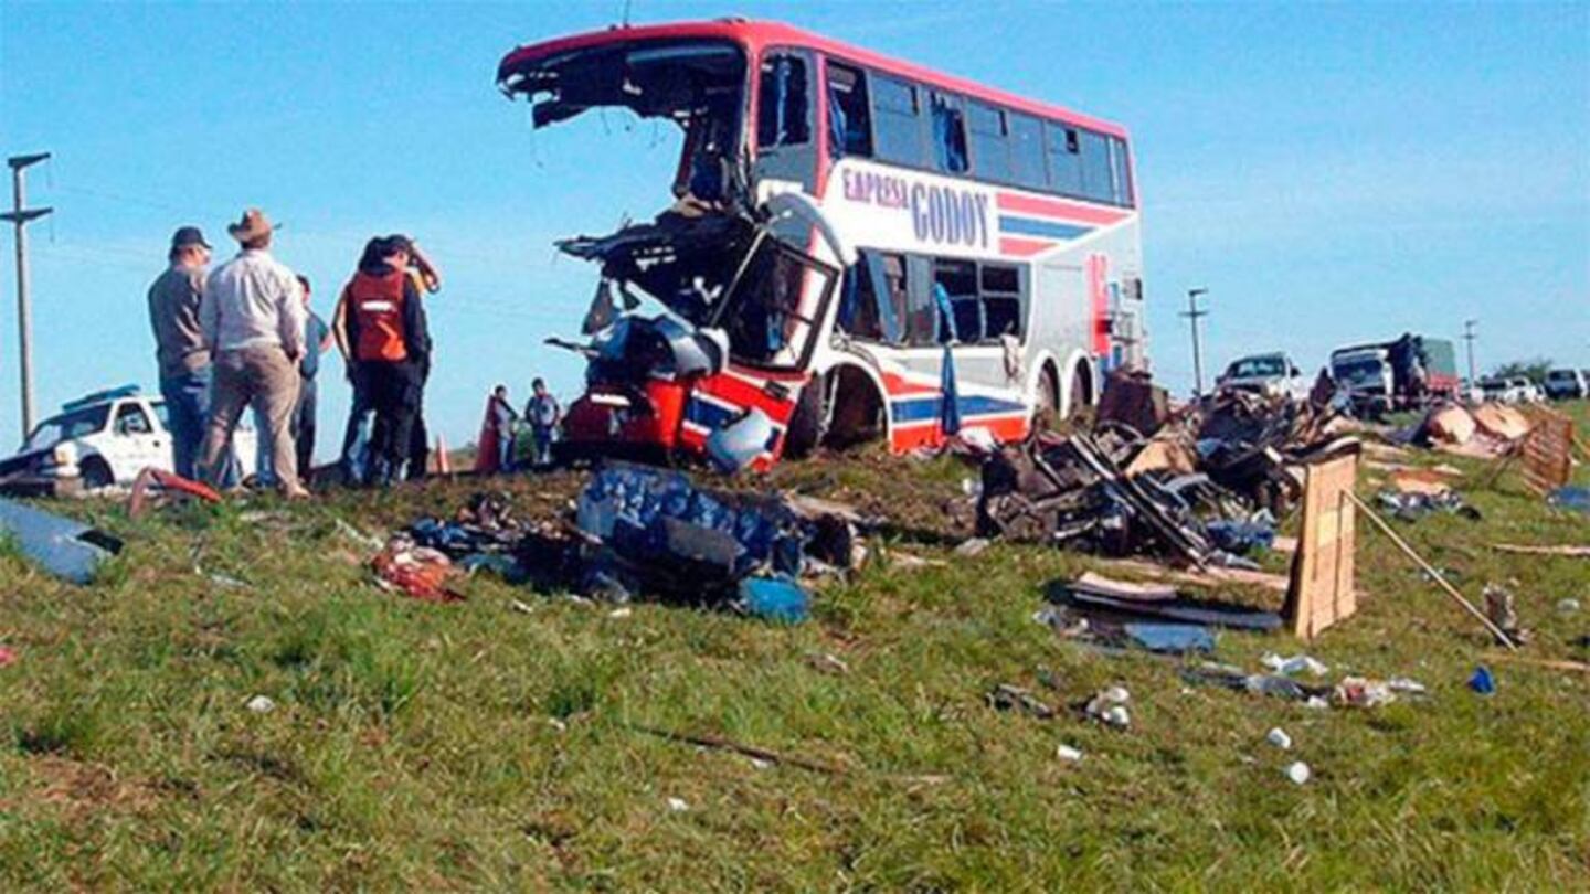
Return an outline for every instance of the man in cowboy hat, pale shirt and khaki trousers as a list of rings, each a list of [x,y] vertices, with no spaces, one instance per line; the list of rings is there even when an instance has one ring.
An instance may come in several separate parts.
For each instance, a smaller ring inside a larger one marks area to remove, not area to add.
[[[297,477],[291,420],[304,356],[304,296],[293,270],[270,256],[273,229],[258,208],[229,226],[242,251],[210,274],[199,302],[205,345],[215,356],[199,474],[221,482],[237,420],[258,401],[267,428],[259,436],[270,439],[277,484],[286,496],[301,498],[308,492]]]

